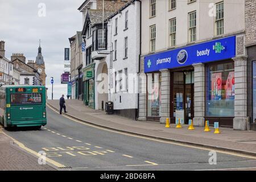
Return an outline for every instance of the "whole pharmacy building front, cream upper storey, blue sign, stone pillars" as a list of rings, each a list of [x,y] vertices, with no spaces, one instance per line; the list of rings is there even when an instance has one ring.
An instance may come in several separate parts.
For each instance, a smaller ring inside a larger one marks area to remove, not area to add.
[[[139,120],[246,130],[245,2],[142,0],[142,7]]]

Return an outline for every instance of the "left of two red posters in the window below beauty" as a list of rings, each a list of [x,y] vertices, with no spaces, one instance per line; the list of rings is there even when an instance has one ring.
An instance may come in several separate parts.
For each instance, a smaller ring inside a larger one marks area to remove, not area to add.
[[[212,100],[221,100],[221,73],[212,73]]]

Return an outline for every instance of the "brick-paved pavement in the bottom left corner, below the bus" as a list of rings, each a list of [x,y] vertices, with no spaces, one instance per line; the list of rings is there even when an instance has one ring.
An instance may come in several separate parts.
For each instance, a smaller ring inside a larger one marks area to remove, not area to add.
[[[0,127],[0,171],[52,171],[54,168],[38,164],[38,159],[15,146],[13,139]]]

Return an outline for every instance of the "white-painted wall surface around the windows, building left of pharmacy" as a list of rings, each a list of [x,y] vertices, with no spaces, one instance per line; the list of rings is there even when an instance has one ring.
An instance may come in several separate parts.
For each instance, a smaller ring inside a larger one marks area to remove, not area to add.
[[[125,12],[128,11],[128,29],[125,29]],[[134,90],[131,82],[128,84],[128,93],[125,88],[125,68],[128,71],[128,79],[133,77],[135,80],[138,79],[138,64],[139,64],[139,35],[140,35],[140,3],[135,1],[135,5],[130,5],[126,9],[122,10],[121,13],[115,15],[108,22],[108,47],[111,47],[114,41],[117,40],[117,60],[113,61],[113,78],[114,72],[122,70],[123,72],[123,90],[119,90],[119,84],[117,84],[117,93],[114,93],[115,84],[113,81],[113,88],[111,93],[109,93],[109,100],[114,102],[114,109],[137,109],[138,108],[138,83],[135,84]],[[115,34],[115,18],[118,18],[118,31]],[[127,59],[123,59],[124,47],[125,47],[125,37],[128,38],[128,56]],[[112,43],[112,44],[111,44]],[[110,49],[109,49],[110,51]],[[113,52],[114,59],[114,52]],[[107,57],[108,68],[110,68],[110,56]],[[110,73],[110,69],[109,69]],[[117,77],[118,78],[118,77]],[[110,74],[109,74],[110,82]],[[119,98],[122,98],[122,102],[119,102]]]

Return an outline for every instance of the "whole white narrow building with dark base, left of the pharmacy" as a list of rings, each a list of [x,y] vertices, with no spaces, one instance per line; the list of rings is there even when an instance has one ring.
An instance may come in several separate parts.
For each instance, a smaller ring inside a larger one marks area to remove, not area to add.
[[[141,2],[131,1],[108,18],[109,101],[116,113],[137,118]]]

